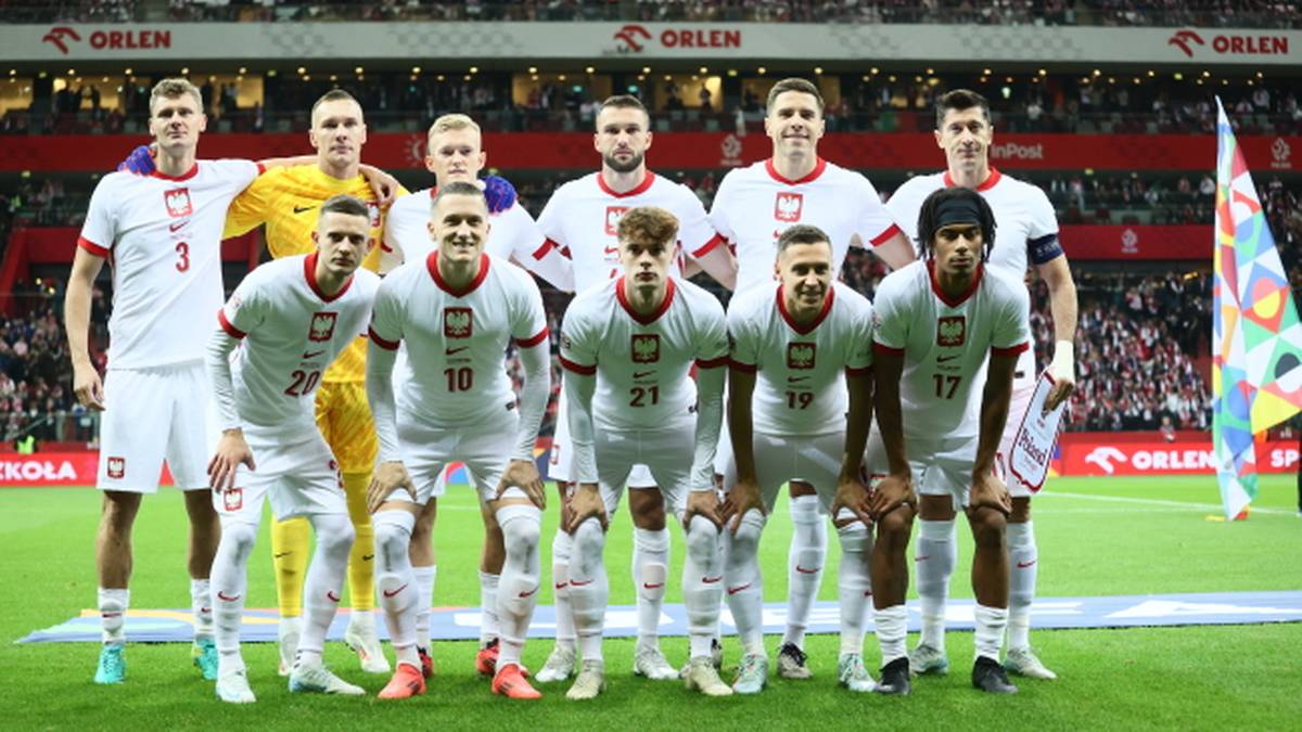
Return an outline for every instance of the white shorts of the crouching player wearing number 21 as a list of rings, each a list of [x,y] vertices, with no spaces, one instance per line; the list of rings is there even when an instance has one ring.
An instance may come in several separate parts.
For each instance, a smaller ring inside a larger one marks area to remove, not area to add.
[[[637,468],[646,469],[650,485],[660,488],[665,513],[677,514],[686,508],[697,449],[694,419],[655,430],[598,430],[592,447],[608,517],[620,507],[624,487],[633,487],[630,475]]]

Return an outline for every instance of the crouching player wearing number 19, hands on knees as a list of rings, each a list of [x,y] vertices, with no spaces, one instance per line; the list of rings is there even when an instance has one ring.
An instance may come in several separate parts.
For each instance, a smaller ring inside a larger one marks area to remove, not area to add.
[[[837,675],[850,690],[871,692],[862,654],[872,529],[833,511],[833,501],[840,508],[866,496],[859,466],[872,414],[872,305],[832,280],[832,244],[816,227],[784,231],[775,268],[781,284],[750,288],[728,307],[733,460],[724,474],[724,586],[743,654],[733,690],[758,694],[768,681],[759,539],[777,488],[802,478],[835,516],[841,541]]]

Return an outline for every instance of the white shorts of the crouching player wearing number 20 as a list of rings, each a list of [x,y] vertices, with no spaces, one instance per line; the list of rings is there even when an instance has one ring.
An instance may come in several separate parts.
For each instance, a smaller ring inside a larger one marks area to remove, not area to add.
[[[212,494],[212,507],[223,521],[258,525],[267,496],[277,521],[296,516],[348,514],[339,462],[315,429],[306,440],[289,442],[247,430],[245,440],[258,468],[249,470],[241,465],[236,469],[236,487]]]

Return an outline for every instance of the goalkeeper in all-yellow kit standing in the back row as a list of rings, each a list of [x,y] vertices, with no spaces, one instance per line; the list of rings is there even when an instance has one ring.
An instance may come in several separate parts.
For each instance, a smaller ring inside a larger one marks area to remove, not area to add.
[[[371,212],[371,237],[380,241],[384,208],[361,173],[366,122],[362,107],[346,91],[326,92],[312,106],[309,139],[316,163],[276,168],[263,173],[230,207],[225,236],[242,234],[266,225],[267,249],[275,258],[309,254],[311,232],[322,203],[336,194],[366,202]],[[405,191],[402,191],[405,193]],[[379,270],[380,247],[362,260],[362,268]],[[375,427],[365,393],[366,344],[358,339],[322,375],[316,389],[316,426],[339,460],[344,474],[348,512],[357,533],[348,560],[348,586],[353,612],[344,641],[357,651],[362,669],[385,673],[389,663],[375,633],[375,550],[371,517],[366,511],[366,486],[375,462]],[[288,675],[302,632],[303,578],[307,569],[309,522],[298,517],[277,521],[271,530],[280,600],[280,672]]]

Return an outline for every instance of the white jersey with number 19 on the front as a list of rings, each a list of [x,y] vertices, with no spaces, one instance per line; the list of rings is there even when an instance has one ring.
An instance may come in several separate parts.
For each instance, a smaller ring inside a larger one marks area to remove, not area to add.
[[[751,288],[728,306],[732,367],[758,373],[751,406],[756,432],[822,435],[845,430],[845,374],[872,366],[872,303],[832,283],[822,313],[799,327],[783,285]]]

